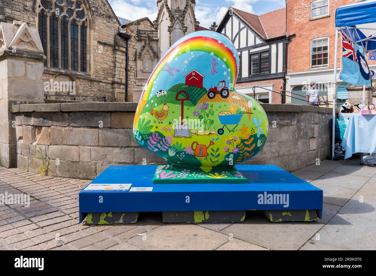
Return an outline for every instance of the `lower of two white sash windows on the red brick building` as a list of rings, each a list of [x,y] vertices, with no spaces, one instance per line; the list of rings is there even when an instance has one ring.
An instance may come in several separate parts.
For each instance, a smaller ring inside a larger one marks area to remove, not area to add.
[[[329,66],[329,38],[311,40],[311,68]]]

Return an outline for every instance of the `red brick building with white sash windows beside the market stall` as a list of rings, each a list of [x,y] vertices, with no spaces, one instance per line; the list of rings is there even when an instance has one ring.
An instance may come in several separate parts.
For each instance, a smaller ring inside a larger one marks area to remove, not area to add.
[[[320,96],[332,101],[335,50],[335,9],[358,0],[287,0],[287,85],[286,90],[302,95],[302,101],[287,97],[286,102],[306,104],[307,84],[317,83]],[[337,79],[341,64],[338,39]],[[367,60],[370,69],[375,62]],[[342,83],[342,84],[341,84]],[[347,86],[338,80],[337,86]],[[330,106],[332,107],[332,106]]]

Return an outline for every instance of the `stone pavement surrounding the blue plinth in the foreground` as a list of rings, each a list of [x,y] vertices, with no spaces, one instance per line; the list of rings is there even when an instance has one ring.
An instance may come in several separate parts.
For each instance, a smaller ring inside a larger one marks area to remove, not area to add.
[[[0,194],[30,195],[27,208],[0,205],[0,250],[376,249],[376,167],[323,160],[293,174],[324,190],[318,222],[272,223],[247,211],[243,223],[164,224],[161,213],[141,213],[135,224],[88,226],[78,193],[90,181],[0,167]]]

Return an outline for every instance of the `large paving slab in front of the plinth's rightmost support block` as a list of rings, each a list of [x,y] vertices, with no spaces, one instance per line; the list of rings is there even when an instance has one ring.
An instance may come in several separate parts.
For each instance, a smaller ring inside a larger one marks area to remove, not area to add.
[[[270,222],[264,214],[249,211],[242,223],[220,233],[276,250],[298,250],[323,225],[317,222]]]

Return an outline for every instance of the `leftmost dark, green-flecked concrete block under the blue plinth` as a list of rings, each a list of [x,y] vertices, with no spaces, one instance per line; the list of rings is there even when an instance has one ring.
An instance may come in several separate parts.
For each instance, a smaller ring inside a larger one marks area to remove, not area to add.
[[[88,213],[86,224],[136,223],[139,214],[139,212]]]

